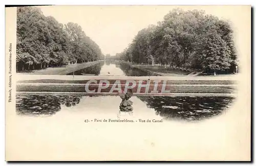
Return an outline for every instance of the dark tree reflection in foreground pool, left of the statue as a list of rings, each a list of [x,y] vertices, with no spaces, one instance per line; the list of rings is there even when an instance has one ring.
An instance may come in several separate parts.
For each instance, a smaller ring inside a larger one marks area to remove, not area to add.
[[[16,95],[18,115],[51,116],[61,109],[61,105],[74,106],[82,96],[74,95]]]

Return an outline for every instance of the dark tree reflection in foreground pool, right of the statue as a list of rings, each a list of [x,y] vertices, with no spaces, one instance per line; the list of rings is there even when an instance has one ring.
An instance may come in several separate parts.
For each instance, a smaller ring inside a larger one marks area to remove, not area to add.
[[[154,108],[157,115],[166,120],[183,119],[198,121],[217,116],[230,107],[234,97],[193,96],[138,96],[147,107]]]

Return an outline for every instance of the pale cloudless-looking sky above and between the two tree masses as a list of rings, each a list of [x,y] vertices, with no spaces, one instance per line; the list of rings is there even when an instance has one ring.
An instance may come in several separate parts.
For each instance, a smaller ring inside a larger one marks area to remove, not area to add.
[[[180,6],[181,7],[181,6]],[[157,24],[177,6],[41,6],[45,16],[60,23],[78,23],[82,30],[101,48],[114,56],[132,42],[135,35],[150,24]],[[234,26],[243,23],[241,7],[227,10],[225,6],[183,6],[184,10],[205,10],[230,20]],[[236,16],[239,13],[239,16]],[[238,18],[239,17],[239,18]],[[237,27],[236,27],[237,28]],[[237,29],[234,29],[238,31]]]

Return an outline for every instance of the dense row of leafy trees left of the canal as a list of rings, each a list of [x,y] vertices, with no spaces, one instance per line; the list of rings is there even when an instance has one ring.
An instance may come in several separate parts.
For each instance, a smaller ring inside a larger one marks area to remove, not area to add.
[[[90,62],[102,56],[77,23],[61,24],[35,7],[17,8],[17,70]]]

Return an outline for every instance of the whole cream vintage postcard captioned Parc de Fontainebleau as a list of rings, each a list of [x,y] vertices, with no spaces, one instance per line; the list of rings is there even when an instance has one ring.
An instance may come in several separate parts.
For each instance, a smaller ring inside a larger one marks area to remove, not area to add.
[[[6,8],[7,161],[250,161],[250,6]]]

